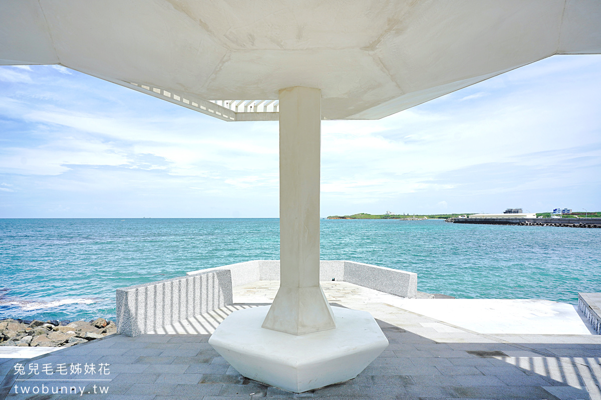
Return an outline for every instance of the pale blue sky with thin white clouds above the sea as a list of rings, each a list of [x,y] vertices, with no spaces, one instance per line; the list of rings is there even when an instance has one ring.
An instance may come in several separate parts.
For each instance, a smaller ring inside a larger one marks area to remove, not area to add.
[[[321,215],[601,210],[601,56],[322,124]],[[58,66],[0,67],[0,218],[276,217],[278,125]]]

